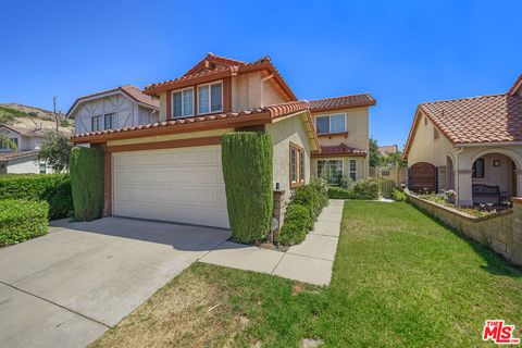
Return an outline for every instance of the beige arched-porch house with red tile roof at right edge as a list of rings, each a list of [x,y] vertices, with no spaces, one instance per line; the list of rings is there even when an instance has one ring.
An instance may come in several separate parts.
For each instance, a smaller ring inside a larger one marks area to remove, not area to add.
[[[421,103],[403,157],[413,190],[462,206],[522,197],[522,75],[506,94]]]

